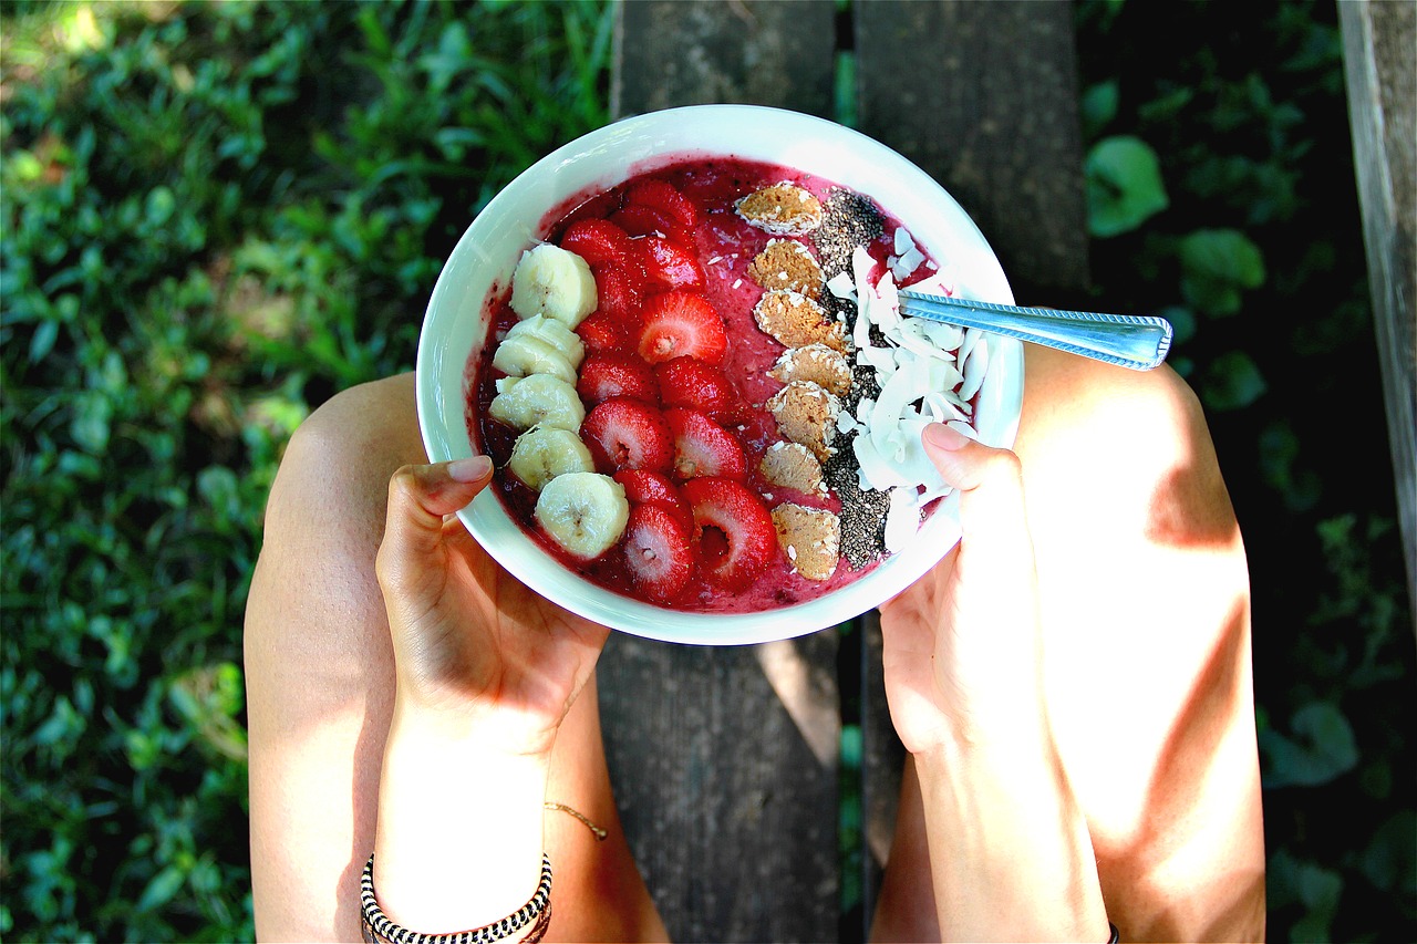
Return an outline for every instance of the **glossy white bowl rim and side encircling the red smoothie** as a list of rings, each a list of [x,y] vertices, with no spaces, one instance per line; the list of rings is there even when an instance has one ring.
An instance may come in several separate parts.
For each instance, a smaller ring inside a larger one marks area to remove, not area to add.
[[[857,159],[857,152],[863,156],[870,154],[874,162],[871,173],[904,174],[907,179],[918,181],[924,190],[922,200],[932,208],[948,215],[947,227],[941,228],[938,235],[948,235],[951,242],[961,242],[961,245],[968,247],[969,254],[973,257],[971,261],[976,266],[982,266],[979,271],[972,272],[971,288],[973,291],[968,293],[982,300],[1013,302],[1013,293],[1003,269],[973,220],[930,174],[873,137],[828,119],[762,105],[689,105],[635,115],[604,125],[554,149],[517,174],[476,214],[449,252],[429,295],[419,330],[415,361],[418,425],[428,458],[434,462],[441,462],[473,455],[472,439],[463,420],[463,404],[469,394],[465,381],[465,369],[472,349],[451,352],[448,337],[441,330],[444,327],[442,322],[449,318],[445,312],[452,312],[458,308],[458,302],[449,296],[458,291],[455,282],[462,278],[463,269],[473,265],[468,262],[469,257],[478,257],[482,262],[489,261],[487,254],[479,251],[479,240],[487,238],[492,242],[489,237],[497,232],[497,227],[512,225],[512,221],[504,221],[502,217],[513,213],[519,200],[530,200],[524,194],[540,189],[536,184],[537,180],[544,174],[551,174],[555,179],[568,173],[568,170],[575,170],[582,162],[592,162],[591,166],[594,166],[594,162],[602,159],[606,150],[625,147],[629,143],[638,142],[642,149],[650,152],[640,160],[626,159],[611,164],[615,167],[615,173],[605,177],[608,183],[595,184],[609,187],[636,173],[642,173],[646,164],[667,164],[676,159],[707,153],[741,154],[741,149],[737,147],[714,150],[708,145],[665,149],[666,140],[674,137],[666,128],[718,128],[727,133],[734,133],[734,129],[744,125],[761,128],[768,123],[777,129],[786,129],[796,133],[829,136],[835,142],[842,142],[837,146],[849,145],[847,157],[843,159],[847,163]],[[694,133],[701,132],[696,130]],[[799,166],[803,163],[781,157],[754,156],[750,159],[781,163],[784,166]],[[820,167],[822,163],[815,166]],[[832,174],[818,173],[809,167],[803,167],[803,170],[833,180],[833,183],[850,186]],[[570,196],[581,190],[582,187],[571,187],[563,196]],[[871,196],[874,197],[874,194]],[[527,230],[527,238],[519,244],[520,247],[527,245],[531,240],[541,235],[534,230],[546,221],[547,215],[557,207],[557,201],[547,200],[538,206],[541,207],[541,215],[529,225],[524,217],[516,217],[523,223],[521,228]],[[893,206],[884,203],[881,206],[886,206],[887,211],[901,220],[904,225],[905,218],[903,214],[897,213]],[[937,241],[920,235],[918,227],[907,227],[907,230],[927,248],[930,248],[931,242]],[[516,255],[520,255],[520,249],[516,251]],[[939,257],[937,255],[935,258]],[[949,264],[949,259],[942,261]],[[486,274],[483,272],[483,275]],[[510,276],[510,268],[492,274],[489,285],[499,276]],[[466,303],[462,306],[466,308]],[[485,318],[483,308],[485,299],[476,299],[475,310],[479,316]],[[482,332],[483,336],[486,333]],[[1023,395],[1022,344],[1013,339],[999,336],[990,336],[989,344],[990,366],[986,371],[985,383],[990,386],[990,390],[996,395],[1002,397],[1002,401],[998,404],[998,410],[1002,412],[1002,422],[998,429],[992,431],[992,435],[986,441],[992,445],[1012,446],[1017,432],[1017,418]],[[461,354],[461,357],[455,364],[449,364],[449,359],[455,354]],[[449,403],[452,398],[451,373],[456,373],[458,378],[458,398],[455,404]],[[452,415],[458,418],[456,424],[449,422],[449,407],[455,407]],[[959,536],[958,493],[952,493],[945,499],[945,507],[931,516],[905,550],[877,564],[870,574],[825,597],[758,612],[686,612],[633,600],[580,577],[541,549],[516,522],[512,522],[500,499],[490,488],[479,493],[468,507],[461,509],[458,517],[468,527],[469,533],[472,533],[473,539],[509,574],[563,608],[621,632],[663,642],[693,645],[769,642],[839,625],[879,607],[918,580],[954,547]],[[529,550],[534,553],[529,553]]]

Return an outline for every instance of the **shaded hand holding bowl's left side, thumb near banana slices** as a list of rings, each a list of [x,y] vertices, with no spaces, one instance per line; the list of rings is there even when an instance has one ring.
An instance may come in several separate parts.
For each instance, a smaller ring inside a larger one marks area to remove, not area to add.
[[[377,573],[397,707],[544,757],[609,631],[524,587],[449,517],[490,478],[490,461],[475,456],[408,465],[390,481]]]

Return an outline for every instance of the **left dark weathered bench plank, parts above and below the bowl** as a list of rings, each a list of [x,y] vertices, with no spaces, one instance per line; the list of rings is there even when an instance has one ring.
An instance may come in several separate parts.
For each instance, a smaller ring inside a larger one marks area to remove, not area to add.
[[[835,4],[619,9],[616,116],[737,102],[832,108]],[[615,635],[598,679],[631,848],[676,940],[837,937],[837,636],[693,648]]]

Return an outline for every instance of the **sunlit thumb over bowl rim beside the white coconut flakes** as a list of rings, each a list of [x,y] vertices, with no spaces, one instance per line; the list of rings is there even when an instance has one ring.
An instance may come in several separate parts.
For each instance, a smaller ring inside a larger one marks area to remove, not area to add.
[[[945,482],[959,489],[964,540],[975,547],[1032,554],[1019,456],[976,442],[942,422],[925,427],[921,442]]]

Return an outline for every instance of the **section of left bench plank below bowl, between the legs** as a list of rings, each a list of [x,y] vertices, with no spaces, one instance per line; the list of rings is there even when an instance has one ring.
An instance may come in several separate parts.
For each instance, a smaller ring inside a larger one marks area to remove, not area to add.
[[[616,634],[598,679],[616,804],[670,935],[835,940],[836,634],[727,648]]]

